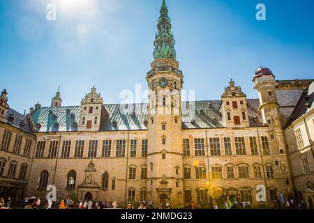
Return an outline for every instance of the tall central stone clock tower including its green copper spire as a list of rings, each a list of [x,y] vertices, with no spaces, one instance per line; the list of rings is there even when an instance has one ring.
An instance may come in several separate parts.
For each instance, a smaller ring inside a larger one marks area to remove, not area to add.
[[[154,61],[147,73],[149,86],[148,199],[155,205],[170,200],[184,206],[181,145],[181,89],[183,75],[174,49],[174,36],[163,0],[154,42]]]

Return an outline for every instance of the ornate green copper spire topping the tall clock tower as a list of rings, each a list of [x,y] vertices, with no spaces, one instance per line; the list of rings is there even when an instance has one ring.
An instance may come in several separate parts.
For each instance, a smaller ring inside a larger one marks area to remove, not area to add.
[[[160,17],[157,24],[158,33],[154,42],[154,59],[170,58],[176,60],[176,50],[174,45],[176,41],[171,31],[171,20],[168,16],[168,8],[163,0],[160,8]]]

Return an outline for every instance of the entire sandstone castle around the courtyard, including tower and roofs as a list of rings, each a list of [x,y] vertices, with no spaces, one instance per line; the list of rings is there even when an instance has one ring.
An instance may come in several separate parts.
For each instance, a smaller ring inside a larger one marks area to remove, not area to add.
[[[314,116],[304,104],[313,80],[278,81],[261,67],[253,74],[258,99],[231,79],[220,100],[183,102],[165,1],[157,29],[147,103],[107,105],[93,87],[80,105],[61,106],[58,91],[50,107],[37,103],[25,116],[8,107],[2,92],[1,197],[45,199],[47,185],[56,186],[58,200],[116,200],[121,207],[153,201],[158,208],[166,199],[173,208],[190,201],[223,206],[227,199],[261,207],[294,198],[296,190],[313,196]],[[302,118],[311,125],[309,141]],[[304,144],[297,148],[299,125]],[[304,155],[312,166],[301,177]]]

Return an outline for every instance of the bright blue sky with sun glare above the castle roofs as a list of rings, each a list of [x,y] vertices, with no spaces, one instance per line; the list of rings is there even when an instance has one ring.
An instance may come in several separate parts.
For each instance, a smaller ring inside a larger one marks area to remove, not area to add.
[[[76,3],[73,3],[73,2]],[[46,20],[47,3],[57,20]],[[184,89],[219,100],[233,78],[257,98],[253,72],[277,79],[314,78],[314,1],[167,0]],[[255,19],[264,3],[267,20]],[[49,106],[61,85],[63,105],[80,105],[96,86],[105,104],[146,89],[161,0],[0,1],[0,88],[19,112]]]

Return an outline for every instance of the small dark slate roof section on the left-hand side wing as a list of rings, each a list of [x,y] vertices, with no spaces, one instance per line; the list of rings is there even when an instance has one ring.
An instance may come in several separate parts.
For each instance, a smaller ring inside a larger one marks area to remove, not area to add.
[[[6,112],[5,122],[8,125],[12,125],[13,127],[18,128],[24,132],[27,132],[29,134],[33,134],[33,131],[31,130],[31,123],[29,122],[29,119],[26,116],[15,111],[14,109],[11,109],[11,108],[8,109],[8,112]]]

